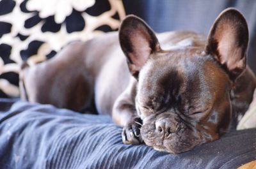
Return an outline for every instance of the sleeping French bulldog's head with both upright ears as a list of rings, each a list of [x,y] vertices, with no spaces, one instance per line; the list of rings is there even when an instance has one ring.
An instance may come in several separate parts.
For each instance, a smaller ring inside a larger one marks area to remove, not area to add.
[[[160,151],[179,153],[216,140],[231,119],[230,92],[246,68],[248,27],[239,11],[223,11],[205,47],[162,50],[138,17],[125,18],[120,45],[138,80],[141,136]]]

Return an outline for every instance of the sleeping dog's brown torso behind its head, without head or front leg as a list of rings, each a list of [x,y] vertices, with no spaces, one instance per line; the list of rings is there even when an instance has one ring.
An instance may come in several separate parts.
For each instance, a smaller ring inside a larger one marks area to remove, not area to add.
[[[189,31],[157,37],[164,50],[205,44],[204,35]],[[111,114],[115,99],[131,76],[125,59],[116,32],[74,41],[52,59],[20,71],[21,98],[76,111],[92,105],[94,98],[100,114]],[[113,83],[118,87],[112,87]]]

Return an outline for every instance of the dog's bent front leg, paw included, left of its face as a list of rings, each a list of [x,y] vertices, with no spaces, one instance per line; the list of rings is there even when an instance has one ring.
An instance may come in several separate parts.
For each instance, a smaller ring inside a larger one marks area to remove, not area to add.
[[[116,99],[112,117],[113,121],[123,126],[122,140],[126,144],[139,144],[143,142],[140,135],[142,120],[136,112],[135,96],[137,80],[130,78],[129,85]]]

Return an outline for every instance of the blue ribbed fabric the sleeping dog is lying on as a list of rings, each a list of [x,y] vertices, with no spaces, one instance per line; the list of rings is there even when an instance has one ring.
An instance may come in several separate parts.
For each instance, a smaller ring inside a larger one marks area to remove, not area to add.
[[[232,131],[182,154],[124,145],[122,128],[104,115],[0,102],[0,168],[237,168],[256,159],[256,129]],[[5,109],[4,109],[5,108]]]

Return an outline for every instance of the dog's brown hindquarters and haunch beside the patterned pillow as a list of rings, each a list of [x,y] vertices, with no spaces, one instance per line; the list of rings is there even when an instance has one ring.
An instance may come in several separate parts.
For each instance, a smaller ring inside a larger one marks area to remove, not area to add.
[[[21,98],[76,112],[92,107],[93,77],[83,64],[86,45],[74,41],[52,59],[34,66],[22,64]]]

